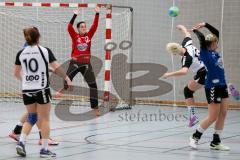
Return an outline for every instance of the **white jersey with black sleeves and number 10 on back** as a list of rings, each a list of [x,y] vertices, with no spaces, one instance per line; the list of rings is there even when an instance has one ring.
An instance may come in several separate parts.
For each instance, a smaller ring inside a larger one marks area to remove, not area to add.
[[[49,87],[48,64],[56,61],[49,48],[27,46],[16,56],[16,65],[22,67],[22,92],[37,92]]]

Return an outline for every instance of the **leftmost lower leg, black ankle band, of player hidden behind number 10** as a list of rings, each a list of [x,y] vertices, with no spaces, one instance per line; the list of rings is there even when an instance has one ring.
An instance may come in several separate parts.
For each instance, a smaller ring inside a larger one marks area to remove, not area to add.
[[[28,115],[28,112],[23,113],[19,122],[17,123],[17,125],[13,129],[12,133],[9,134],[9,137],[14,139],[15,141],[19,140],[19,137],[20,137],[20,134],[21,134],[21,131],[22,131],[22,127],[23,127],[23,123],[27,120],[27,115]]]

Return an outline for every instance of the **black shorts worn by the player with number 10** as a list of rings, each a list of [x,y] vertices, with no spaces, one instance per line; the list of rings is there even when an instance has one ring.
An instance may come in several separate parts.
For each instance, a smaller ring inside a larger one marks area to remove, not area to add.
[[[52,96],[50,88],[39,90],[34,93],[23,93],[23,103],[30,105],[34,103],[47,104],[51,101]]]

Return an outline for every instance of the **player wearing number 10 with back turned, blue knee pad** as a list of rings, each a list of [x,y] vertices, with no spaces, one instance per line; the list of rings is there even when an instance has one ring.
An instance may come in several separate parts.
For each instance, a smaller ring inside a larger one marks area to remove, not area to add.
[[[54,73],[67,81],[68,86],[71,86],[72,82],[56,61],[52,51],[39,45],[40,33],[36,27],[24,29],[24,37],[29,46],[17,53],[14,75],[22,82],[23,102],[28,116],[16,146],[17,154],[26,156],[26,137],[39,121],[43,138],[40,157],[55,157],[56,154],[48,149],[51,108],[48,65],[53,68]]]

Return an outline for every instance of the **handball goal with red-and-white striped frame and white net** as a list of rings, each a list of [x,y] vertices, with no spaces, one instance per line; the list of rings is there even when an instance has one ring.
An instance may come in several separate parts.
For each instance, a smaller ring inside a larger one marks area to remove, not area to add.
[[[85,21],[89,29],[93,23],[95,6],[96,4],[0,2],[0,101],[22,102],[21,84],[13,77],[13,67],[16,54],[25,43],[23,28],[38,27],[41,34],[40,44],[53,51],[66,71],[72,46],[67,32],[68,22],[73,16],[72,10],[80,8],[80,15],[74,24],[75,29],[79,21]],[[91,48],[91,64],[96,76],[99,99],[105,99],[112,104],[129,105],[130,80],[120,79],[123,78],[120,75],[130,70],[125,63],[131,61],[131,47],[122,49],[119,44],[131,42],[131,11],[127,8],[113,7],[111,10],[107,9],[106,5],[101,6],[98,29],[92,39]],[[128,43],[123,44],[126,45]],[[111,49],[106,50],[108,47]],[[127,58],[125,63],[119,58],[123,56]],[[50,77],[54,95],[56,86],[61,86],[62,80],[53,75]],[[112,83],[112,79],[116,82]],[[88,86],[80,73],[74,78],[73,84],[75,89],[64,94],[61,100],[73,100],[77,106],[90,106],[89,94],[85,93]]]

